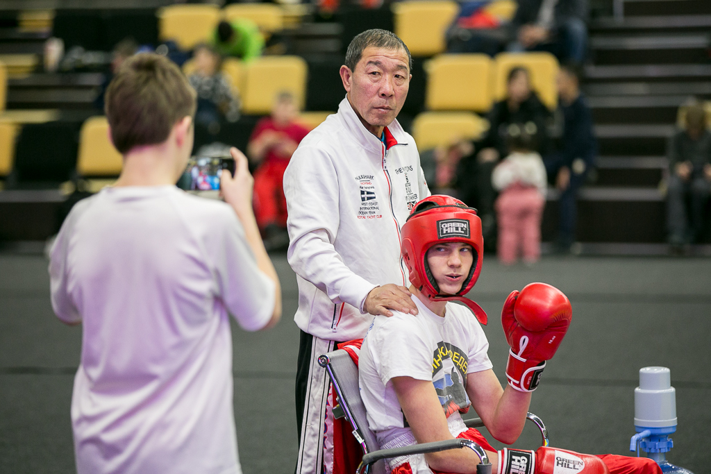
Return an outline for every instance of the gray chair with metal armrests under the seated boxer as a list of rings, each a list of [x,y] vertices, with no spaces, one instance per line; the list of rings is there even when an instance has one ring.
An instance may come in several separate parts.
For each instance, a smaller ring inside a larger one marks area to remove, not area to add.
[[[434,453],[456,448],[469,448],[476,453],[476,456],[481,460],[481,463],[476,467],[477,474],[491,474],[491,462],[488,460],[486,452],[479,444],[468,439],[456,438],[403,446],[402,448],[380,449],[375,434],[368,427],[365,405],[360,399],[360,389],[358,388],[358,367],[351,356],[343,349],[334,350],[319,356],[319,365],[328,372],[333,389],[336,391],[338,404],[333,407],[333,416],[337,419],[345,417],[348,420],[353,427],[353,436],[363,448],[363,460],[360,462],[356,474],[390,474],[385,465],[385,458]],[[543,421],[532,413],[528,413],[526,418],[538,426],[542,446],[549,446],[548,431]],[[481,418],[466,419],[464,422],[467,428],[484,426]]]

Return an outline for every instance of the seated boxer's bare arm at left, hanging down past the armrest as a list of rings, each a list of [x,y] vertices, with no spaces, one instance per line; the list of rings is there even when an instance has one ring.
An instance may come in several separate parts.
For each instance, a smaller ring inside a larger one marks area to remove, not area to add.
[[[447,427],[447,418],[442,405],[439,404],[432,381],[412,377],[392,377],[391,381],[402,413],[405,414],[417,443],[454,438]],[[491,451],[486,454],[493,463],[492,472],[495,473],[498,469],[498,454]],[[471,449],[427,453],[424,458],[430,468],[446,473],[476,473],[476,465],[479,464],[479,457]]]

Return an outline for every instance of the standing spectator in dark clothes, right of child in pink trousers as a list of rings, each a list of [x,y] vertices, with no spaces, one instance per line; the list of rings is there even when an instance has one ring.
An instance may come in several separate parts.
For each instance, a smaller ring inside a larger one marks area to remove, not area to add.
[[[557,246],[569,252],[575,239],[577,190],[594,167],[597,139],[585,98],[580,92],[580,72],[575,65],[564,65],[557,77],[562,135],[557,150],[545,156],[548,177],[560,191]]]

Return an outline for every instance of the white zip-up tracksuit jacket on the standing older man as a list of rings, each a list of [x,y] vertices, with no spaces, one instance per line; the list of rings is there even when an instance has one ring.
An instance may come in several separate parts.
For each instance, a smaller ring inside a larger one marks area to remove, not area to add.
[[[363,338],[375,286],[409,286],[400,228],[429,196],[415,140],[397,123],[383,142],[348,99],[301,141],[284,173],[289,264],[299,284],[294,321],[327,340]]]

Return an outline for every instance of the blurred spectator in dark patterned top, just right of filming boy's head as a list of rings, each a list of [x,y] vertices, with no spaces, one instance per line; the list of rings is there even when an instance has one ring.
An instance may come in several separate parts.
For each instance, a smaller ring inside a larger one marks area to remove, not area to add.
[[[240,100],[232,94],[227,77],[220,72],[222,58],[209,45],[198,45],[193,55],[195,72],[188,80],[198,92],[195,122],[212,134],[220,131],[220,122],[236,122],[240,118]]]

